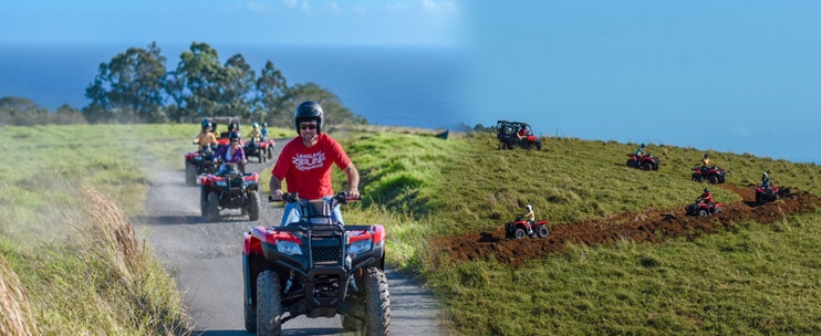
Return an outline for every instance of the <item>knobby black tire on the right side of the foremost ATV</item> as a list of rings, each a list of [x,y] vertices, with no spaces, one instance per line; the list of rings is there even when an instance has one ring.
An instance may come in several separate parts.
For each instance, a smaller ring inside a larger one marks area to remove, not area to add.
[[[365,335],[391,334],[391,293],[382,270],[365,270]]]

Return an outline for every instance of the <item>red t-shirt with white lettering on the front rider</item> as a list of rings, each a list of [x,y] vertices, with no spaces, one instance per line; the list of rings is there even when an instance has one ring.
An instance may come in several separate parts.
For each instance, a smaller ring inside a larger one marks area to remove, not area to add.
[[[351,165],[351,159],[331,136],[321,133],[316,145],[311,148],[306,148],[302,145],[302,139],[295,137],[282,148],[271,175],[285,180],[288,192],[298,192],[302,199],[320,199],[333,195],[333,164],[345,169]]]

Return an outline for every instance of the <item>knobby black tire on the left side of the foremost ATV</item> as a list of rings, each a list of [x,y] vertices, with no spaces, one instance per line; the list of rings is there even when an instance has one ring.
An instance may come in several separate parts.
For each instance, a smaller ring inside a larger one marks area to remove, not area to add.
[[[273,271],[263,271],[257,276],[257,335],[282,334],[282,295],[279,276]]]

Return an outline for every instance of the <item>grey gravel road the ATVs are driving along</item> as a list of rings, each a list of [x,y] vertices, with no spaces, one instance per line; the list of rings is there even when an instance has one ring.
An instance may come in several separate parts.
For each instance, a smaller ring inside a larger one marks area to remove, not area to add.
[[[283,144],[284,140],[277,143],[277,154]],[[270,174],[272,162],[258,164],[254,158],[250,161],[248,171]],[[176,276],[196,334],[249,335],[242,317],[242,233],[256,225],[279,225],[282,208],[263,201],[258,222],[239,217],[239,210],[236,217],[208,222],[199,216],[199,187],[186,186],[184,175],[183,170],[156,171],[146,201],[149,216],[133,218],[135,229]],[[261,190],[267,198],[268,186]],[[386,275],[391,291],[391,334],[445,334],[433,295],[395,270],[386,270]],[[282,335],[343,333],[339,317],[300,316],[283,325]]]

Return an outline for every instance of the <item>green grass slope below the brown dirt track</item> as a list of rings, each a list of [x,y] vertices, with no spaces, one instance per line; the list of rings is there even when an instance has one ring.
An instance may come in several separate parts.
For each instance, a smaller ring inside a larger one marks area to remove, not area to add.
[[[432,272],[463,335],[818,335],[818,214],[663,245],[575,246]],[[489,318],[489,316],[492,316]]]

